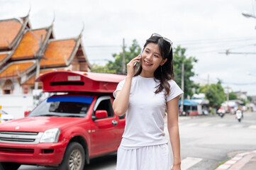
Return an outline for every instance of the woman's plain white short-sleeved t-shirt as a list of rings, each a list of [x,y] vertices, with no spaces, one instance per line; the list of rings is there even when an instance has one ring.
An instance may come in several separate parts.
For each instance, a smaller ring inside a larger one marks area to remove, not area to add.
[[[119,82],[116,91],[123,88],[125,80]],[[130,98],[126,111],[126,127],[123,132],[122,147],[145,147],[167,143],[165,137],[165,111],[167,102],[183,94],[175,81],[170,80],[169,96],[165,90],[155,94],[160,84],[154,78],[140,75],[133,77],[130,87]],[[113,96],[116,97],[116,91]]]

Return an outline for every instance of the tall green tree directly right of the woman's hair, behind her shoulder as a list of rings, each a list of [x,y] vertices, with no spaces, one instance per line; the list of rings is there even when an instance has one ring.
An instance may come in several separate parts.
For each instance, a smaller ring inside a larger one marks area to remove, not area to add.
[[[195,57],[187,57],[185,55],[186,48],[178,46],[174,48],[174,77],[177,84],[182,86],[182,63],[184,63],[184,97],[193,96],[192,89],[198,89],[199,84],[195,84],[194,81],[191,81],[191,77],[194,77],[195,73],[193,72],[194,63],[197,62]]]

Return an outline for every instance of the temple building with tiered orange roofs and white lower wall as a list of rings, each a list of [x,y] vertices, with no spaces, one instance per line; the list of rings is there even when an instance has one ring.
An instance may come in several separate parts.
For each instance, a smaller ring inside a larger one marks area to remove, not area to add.
[[[82,33],[56,40],[51,26],[32,29],[29,14],[0,20],[0,106],[15,118],[33,108],[35,77],[52,70],[89,72]]]

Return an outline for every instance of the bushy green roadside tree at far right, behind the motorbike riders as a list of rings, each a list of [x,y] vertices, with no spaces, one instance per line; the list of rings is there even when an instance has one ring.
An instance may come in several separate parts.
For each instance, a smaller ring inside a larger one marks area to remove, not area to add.
[[[200,86],[199,91],[206,94],[206,98],[209,101],[209,105],[218,108],[221,107],[221,103],[226,100],[224,89],[221,86],[221,81],[218,80],[217,84],[210,84]]]

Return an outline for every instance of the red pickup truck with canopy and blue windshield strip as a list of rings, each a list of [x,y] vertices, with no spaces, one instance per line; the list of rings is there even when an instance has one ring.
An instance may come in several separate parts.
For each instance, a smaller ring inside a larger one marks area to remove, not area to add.
[[[123,79],[68,71],[38,77],[43,92],[55,95],[25,118],[0,123],[0,169],[33,164],[82,170],[91,158],[116,152],[126,120],[113,113],[112,93]]]

